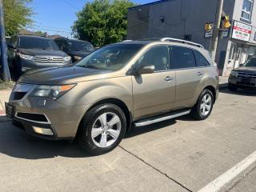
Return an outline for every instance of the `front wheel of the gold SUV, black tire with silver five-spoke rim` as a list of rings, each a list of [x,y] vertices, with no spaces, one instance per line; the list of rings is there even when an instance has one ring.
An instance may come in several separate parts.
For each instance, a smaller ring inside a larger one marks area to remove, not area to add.
[[[94,106],[82,119],[78,142],[90,154],[114,150],[126,132],[126,115],[116,105]]]

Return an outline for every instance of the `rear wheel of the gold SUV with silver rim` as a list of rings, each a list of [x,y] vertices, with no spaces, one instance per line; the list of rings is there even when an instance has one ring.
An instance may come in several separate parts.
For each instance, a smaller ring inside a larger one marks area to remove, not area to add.
[[[192,108],[191,114],[197,120],[204,120],[210,116],[213,106],[213,93],[208,89],[202,90],[198,102]]]

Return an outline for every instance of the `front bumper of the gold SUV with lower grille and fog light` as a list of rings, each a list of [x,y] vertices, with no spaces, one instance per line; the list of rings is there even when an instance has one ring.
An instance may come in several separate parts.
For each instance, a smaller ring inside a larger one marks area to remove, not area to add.
[[[22,99],[14,100],[12,93],[10,102],[6,103],[6,114],[14,126],[26,130],[28,134],[58,140],[75,137],[87,108],[65,106],[51,98],[30,97],[29,93]]]

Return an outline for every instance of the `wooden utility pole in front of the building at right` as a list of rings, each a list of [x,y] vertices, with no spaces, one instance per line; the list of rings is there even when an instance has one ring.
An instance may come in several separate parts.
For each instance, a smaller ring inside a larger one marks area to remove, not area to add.
[[[223,0],[218,0],[217,11],[216,11],[215,21],[214,21],[213,37],[211,38],[211,42],[210,42],[210,53],[211,53],[211,58],[214,60],[214,62],[215,62],[216,50],[218,46],[218,33],[220,31],[219,26],[221,24],[221,19],[222,19],[222,7],[223,7]]]

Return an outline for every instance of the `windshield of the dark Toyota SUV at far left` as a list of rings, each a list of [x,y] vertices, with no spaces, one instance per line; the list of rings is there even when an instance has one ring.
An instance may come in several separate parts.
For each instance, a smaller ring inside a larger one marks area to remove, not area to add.
[[[36,37],[21,37],[19,47],[23,49],[59,50],[52,39]]]

